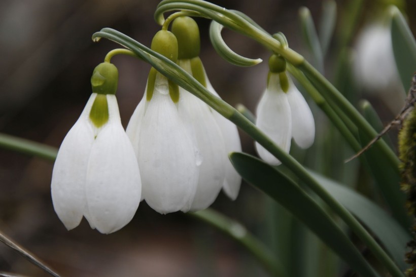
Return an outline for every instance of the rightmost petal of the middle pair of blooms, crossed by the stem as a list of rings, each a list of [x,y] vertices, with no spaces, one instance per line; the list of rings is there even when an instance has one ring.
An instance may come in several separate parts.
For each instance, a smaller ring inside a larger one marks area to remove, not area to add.
[[[208,80],[208,76],[205,73],[205,82],[206,88],[215,96],[221,98],[218,93],[214,90],[213,86],[211,85],[210,81]],[[219,114],[216,110],[212,110],[214,113],[215,120],[218,123],[218,126],[221,129],[224,144],[225,144],[225,151],[227,155],[231,152],[241,152],[241,142],[240,137],[238,135],[237,127],[227,120],[224,116]],[[235,200],[237,198],[238,192],[240,190],[241,185],[241,176],[238,175],[237,171],[235,171],[234,167],[231,164],[231,161],[228,159],[225,163],[225,178],[223,183],[223,190],[231,200]]]

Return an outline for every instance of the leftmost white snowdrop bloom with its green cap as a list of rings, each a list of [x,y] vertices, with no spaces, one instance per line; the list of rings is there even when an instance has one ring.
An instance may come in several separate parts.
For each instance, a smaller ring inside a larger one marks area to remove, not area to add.
[[[130,140],[120,122],[117,68],[99,64],[80,118],[65,136],[52,173],[52,201],[65,227],[84,216],[101,233],[130,222],[141,197],[141,178]]]

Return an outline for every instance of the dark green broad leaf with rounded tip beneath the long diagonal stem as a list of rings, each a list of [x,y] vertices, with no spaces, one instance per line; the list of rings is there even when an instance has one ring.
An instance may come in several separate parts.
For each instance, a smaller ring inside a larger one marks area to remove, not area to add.
[[[289,210],[354,270],[363,276],[377,276],[330,216],[299,186],[273,167],[248,154],[232,153],[230,160],[243,179]]]

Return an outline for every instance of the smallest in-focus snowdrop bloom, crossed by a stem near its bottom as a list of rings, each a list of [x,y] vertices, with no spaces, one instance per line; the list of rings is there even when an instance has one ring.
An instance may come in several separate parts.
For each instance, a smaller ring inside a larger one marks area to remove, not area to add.
[[[286,73],[286,61],[278,55],[269,59],[267,88],[257,106],[256,126],[284,151],[289,152],[291,139],[301,148],[314,143],[315,122],[302,94]],[[256,149],[265,162],[281,162],[256,142]]]

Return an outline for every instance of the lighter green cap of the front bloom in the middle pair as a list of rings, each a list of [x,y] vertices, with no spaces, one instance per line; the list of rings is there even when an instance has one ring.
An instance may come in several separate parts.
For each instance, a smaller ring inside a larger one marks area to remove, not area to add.
[[[178,40],[176,39],[176,36],[169,31],[158,31],[153,37],[151,49],[162,54],[172,62],[178,60]]]

